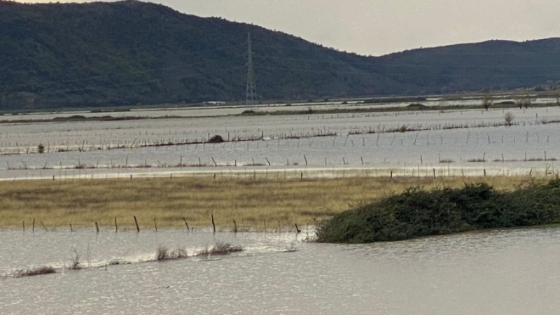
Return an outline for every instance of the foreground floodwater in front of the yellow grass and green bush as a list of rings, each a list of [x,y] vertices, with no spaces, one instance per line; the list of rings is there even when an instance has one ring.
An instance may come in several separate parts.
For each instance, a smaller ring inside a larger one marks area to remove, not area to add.
[[[491,230],[390,243],[302,241],[306,232],[21,232],[0,236],[2,314],[559,314],[560,228]],[[215,240],[245,251],[189,253]],[[288,251],[288,249],[295,251]],[[74,250],[84,269],[65,270]],[[109,265],[106,262],[130,262]],[[15,278],[51,265],[56,274]],[[89,266],[89,267],[88,267]]]

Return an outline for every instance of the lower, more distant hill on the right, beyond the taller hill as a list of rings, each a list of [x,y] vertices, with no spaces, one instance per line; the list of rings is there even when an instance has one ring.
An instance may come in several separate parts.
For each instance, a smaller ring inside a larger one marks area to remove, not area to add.
[[[426,92],[531,87],[559,80],[560,38],[409,50],[379,57],[376,64],[379,73]]]

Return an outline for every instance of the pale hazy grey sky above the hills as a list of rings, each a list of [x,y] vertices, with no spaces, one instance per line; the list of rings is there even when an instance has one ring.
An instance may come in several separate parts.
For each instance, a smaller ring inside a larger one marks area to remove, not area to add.
[[[51,2],[51,1],[19,1]],[[91,2],[59,0],[59,2]],[[361,55],[560,36],[559,0],[150,0]]]

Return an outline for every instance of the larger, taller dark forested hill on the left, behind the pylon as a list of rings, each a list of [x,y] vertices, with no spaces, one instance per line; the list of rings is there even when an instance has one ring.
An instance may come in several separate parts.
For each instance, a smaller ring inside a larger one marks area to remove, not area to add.
[[[0,2],[0,29],[2,108],[244,99],[249,31],[264,98],[400,90],[364,57],[152,3]]]

